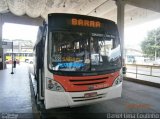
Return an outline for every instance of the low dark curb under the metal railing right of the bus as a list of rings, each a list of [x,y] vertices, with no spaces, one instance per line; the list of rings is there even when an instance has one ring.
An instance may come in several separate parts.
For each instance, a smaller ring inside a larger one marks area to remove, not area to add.
[[[150,81],[144,81],[144,80],[134,79],[134,78],[129,78],[129,77],[124,77],[123,79],[126,81],[131,81],[131,82],[140,83],[140,84],[147,85],[147,86],[160,88],[159,83],[154,83],[154,82],[150,82]]]

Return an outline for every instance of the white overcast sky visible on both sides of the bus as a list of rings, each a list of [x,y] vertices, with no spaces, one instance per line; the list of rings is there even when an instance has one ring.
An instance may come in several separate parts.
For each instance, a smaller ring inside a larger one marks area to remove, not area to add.
[[[148,31],[160,27],[160,19],[124,29],[125,47],[141,49],[140,44],[147,36]],[[23,39],[36,41],[38,26],[5,23],[3,25],[3,39]]]

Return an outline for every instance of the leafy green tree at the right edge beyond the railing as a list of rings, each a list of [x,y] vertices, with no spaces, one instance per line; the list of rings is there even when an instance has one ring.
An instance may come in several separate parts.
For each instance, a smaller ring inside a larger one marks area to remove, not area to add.
[[[148,57],[160,57],[160,28],[148,32],[141,43],[141,49]]]

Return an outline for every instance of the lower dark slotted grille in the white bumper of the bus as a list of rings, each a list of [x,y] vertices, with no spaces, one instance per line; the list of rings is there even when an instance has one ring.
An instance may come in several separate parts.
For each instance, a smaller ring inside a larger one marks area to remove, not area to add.
[[[89,101],[89,100],[96,100],[96,99],[101,99],[101,98],[104,98],[106,97],[106,93],[104,94],[98,94],[97,96],[94,96],[94,97],[90,97],[90,98],[86,98],[86,97],[72,97],[72,100],[74,102],[82,102],[82,101]]]

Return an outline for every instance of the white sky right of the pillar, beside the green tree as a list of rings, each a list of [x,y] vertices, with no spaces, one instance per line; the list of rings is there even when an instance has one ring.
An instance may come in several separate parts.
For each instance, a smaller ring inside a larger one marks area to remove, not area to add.
[[[125,47],[140,48],[140,44],[147,37],[147,33],[153,29],[160,27],[160,19],[135,25],[124,29]]]

